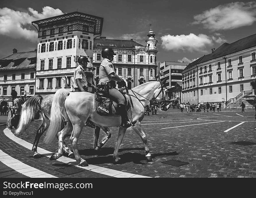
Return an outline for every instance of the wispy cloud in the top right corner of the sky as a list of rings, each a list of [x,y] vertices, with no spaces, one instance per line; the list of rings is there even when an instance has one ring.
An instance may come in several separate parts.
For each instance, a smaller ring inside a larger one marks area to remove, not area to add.
[[[234,2],[219,5],[194,16],[192,24],[202,24],[209,30],[232,30],[250,26],[256,21],[256,2]]]

